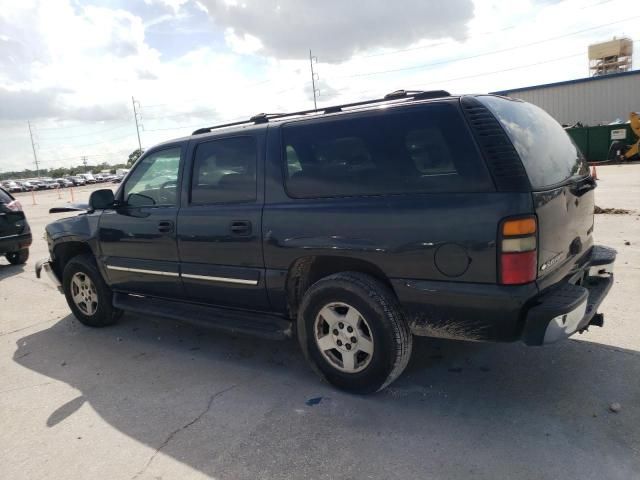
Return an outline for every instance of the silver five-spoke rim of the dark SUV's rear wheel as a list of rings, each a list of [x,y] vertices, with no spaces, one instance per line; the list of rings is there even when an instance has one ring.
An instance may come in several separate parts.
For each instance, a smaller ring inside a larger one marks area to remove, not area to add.
[[[325,305],[316,316],[314,338],[322,356],[336,369],[358,373],[373,358],[373,334],[362,314],[349,304]]]

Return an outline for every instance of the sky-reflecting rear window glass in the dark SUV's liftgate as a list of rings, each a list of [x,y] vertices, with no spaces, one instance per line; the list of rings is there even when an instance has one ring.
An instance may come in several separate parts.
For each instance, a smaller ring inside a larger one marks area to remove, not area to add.
[[[501,97],[478,97],[498,118],[513,142],[533,188],[556,185],[584,176],[589,167],[564,128],[530,103]]]

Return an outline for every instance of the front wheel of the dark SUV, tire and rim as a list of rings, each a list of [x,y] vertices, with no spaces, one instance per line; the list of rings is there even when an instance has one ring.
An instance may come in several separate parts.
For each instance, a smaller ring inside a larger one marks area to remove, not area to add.
[[[113,293],[102,279],[91,255],[73,257],[64,267],[62,288],[69,308],[89,327],[114,324],[120,311],[113,308]]]

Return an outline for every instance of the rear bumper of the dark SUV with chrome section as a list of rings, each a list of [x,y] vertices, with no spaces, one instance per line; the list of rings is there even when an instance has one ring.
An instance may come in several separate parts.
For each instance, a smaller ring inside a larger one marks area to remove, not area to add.
[[[596,246],[588,271],[579,283],[564,283],[542,294],[526,316],[522,340],[527,345],[555,343],[585,331],[590,325],[602,326],[598,307],[613,285],[616,252]]]

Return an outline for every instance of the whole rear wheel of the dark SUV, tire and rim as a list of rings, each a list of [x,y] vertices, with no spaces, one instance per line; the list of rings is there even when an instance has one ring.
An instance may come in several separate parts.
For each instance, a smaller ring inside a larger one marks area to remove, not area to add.
[[[357,272],[312,285],[298,313],[298,341],[314,370],[353,393],[382,390],[411,357],[411,332],[391,290]]]

